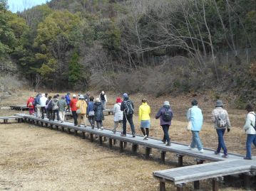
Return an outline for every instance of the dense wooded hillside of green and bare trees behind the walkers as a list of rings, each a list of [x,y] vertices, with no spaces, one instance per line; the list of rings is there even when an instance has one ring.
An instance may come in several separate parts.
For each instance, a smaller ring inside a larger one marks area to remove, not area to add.
[[[36,89],[214,89],[247,102],[255,50],[255,0],[52,0],[18,13],[0,0],[0,70]]]

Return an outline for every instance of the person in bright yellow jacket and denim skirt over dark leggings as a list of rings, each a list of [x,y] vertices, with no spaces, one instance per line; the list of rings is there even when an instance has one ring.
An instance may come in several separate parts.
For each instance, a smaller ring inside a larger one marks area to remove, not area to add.
[[[140,129],[144,135],[144,140],[148,140],[150,129],[150,106],[147,104],[147,99],[142,99],[142,104],[138,109],[138,120],[140,121]]]

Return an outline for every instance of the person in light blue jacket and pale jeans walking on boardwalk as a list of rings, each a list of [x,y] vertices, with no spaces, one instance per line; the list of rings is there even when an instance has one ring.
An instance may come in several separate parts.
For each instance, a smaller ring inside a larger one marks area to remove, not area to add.
[[[187,112],[187,119],[188,121],[192,122],[192,142],[190,143],[190,146],[188,146],[188,148],[192,150],[193,148],[197,147],[198,151],[200,153],[203,153],[203,145],[199,136],[199,132],[201,131],[203,126],[203,114],[202,110],[198,107],[197,100],[194,99],[191,104],[192,107],[190,107]]]

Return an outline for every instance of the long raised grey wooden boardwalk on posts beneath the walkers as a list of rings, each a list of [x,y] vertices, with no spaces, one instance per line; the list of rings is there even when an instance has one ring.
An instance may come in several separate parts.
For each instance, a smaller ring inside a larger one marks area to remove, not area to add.
[[[204,148],[204,153],[199,153],[196,150],[191,151],[188,145],[183,143],[171,142],[171,146],[165,146],[159,139],[148,138],[147,141],[143,140],[143,136],[133,138],[131,134],[121,136],[120,132],[114,134],[110,129],[91,129],[91,126],[74,126],[73,123],[64,121],[48,121],[48,119],[38,119],[35,116],[27,114],[19,114],[24,118],[24,121],[33,123],[39,126],[50,127],[51,129],[60,129],[70,133],[73,131],[75,135],[78,131],[81,132],[82,137],[87,136],[91,141],[96,140],[103,144],[104,140],[108,139],[108,144],[111,147],[119,141],[119,149],[121,152],[126,148],[126,143],[132,144],[132,151],[136,153],[138,146],[145,148],[145,158],[150,157],[152,149],[160,151],[160,161],[165,163],[165,155],[167,152],[175,153],[178,159],[178,166],[180,168],[155,171],[153,176],[160,181],[160,190],[165,190],[165,182],[170,182],[177,186],[177,190],[183,190],[185,183],[194,182],[194,187],[199,188],[199,180],[213,178],[213,190],[218,189],[218,180],[221,180],[225,175],[234,175],[237,173],[245,173],[245,183],[250,182],[250,177],[255,175],[256,160],[243,160],[243,155],[236,153],[228,153],[229,158],[222,158],[221,155],[215,155],[213,149]],[[183,157],[190,156],[196,159],[198,165],[187,167],[183,166]],[[203,164],[203,161],[210,160],[214,163]],[[248,183],[249,184],[249,183]]]

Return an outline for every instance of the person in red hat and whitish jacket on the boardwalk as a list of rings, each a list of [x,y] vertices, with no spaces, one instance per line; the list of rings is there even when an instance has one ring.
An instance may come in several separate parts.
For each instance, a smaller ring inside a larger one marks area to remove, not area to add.
[[[116,104],[113,107],[113,115],[114,115],[114,129],[113,133],[116,133],[116,129],[118,128],[118,124],[123,126],[123,111],[121,111],[121,103],[122,99],[120,97],[116,98]]]

